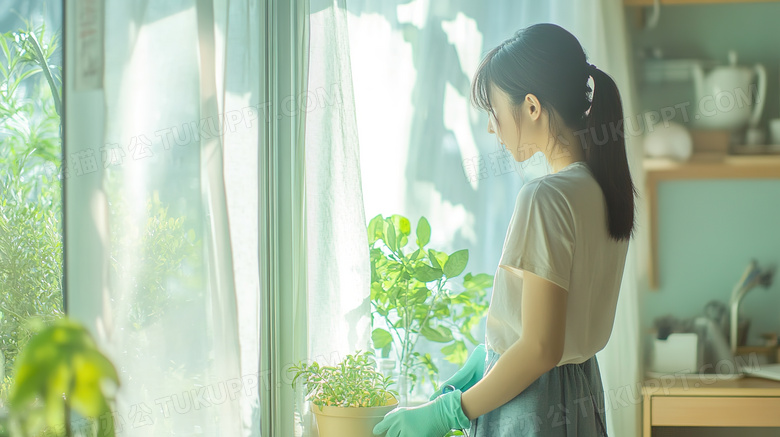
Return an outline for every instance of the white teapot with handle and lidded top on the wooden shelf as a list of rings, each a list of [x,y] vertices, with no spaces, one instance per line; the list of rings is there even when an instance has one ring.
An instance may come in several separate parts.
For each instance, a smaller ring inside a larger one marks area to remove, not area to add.
[[[693,65],[696,87],[694,125],[702,129],[739,130],[756,127],[766,98],[766,69],[737,66],[737,54],[729,52],[729,65],[715,67],[705,75],[700,64]],[[758,92],[751,86],[758,77]]]

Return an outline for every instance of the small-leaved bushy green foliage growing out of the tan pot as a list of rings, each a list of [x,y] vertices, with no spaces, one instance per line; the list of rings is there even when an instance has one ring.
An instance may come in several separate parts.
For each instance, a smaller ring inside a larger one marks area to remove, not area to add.
[[[398,392],[388,387],[393,380],[376,370],[372,351],[358,351],[336,366],[301,361],[290,366],[295,372],[292,387],[301,379],[307,399],[320,407],[380,407],[388,405]]]

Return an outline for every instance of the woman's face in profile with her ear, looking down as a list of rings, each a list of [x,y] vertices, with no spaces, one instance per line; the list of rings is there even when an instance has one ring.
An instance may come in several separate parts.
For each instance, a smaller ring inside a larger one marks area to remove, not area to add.
[[[541,107],[536,97],[529,94],[520,105],[519,120],[515,120],[509,96],[500,88],[490,85],[490,102],[493,113],[489,114],[488,132],[495,134],[515,161],[526,161],[540,150]],[[519,121],[519,125],[518,125]]]

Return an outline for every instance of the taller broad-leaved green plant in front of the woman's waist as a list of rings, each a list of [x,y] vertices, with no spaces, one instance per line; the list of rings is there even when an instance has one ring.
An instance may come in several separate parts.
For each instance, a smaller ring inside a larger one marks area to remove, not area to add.
[[[395,350],[401,377],[417,382],[417,371],[427,371],[434,390],[438,368],[430,353],[416,350],[420,336],[442,343],[441,352],[451,363],[462,365],[468,357],[466,341],[479,342],[471,331],[488,308],[486,289],[493,286],[493,276],[485,273],[463,276],[460,292],[450,285],[466,269],[467,249],[454,253],[426,249],[431,226],[425,217],[417,222],[416,250],[405,253],[411,225],[406,217],[377,215],[368,224],[371,257],[371,306],[374,347],[387,357]],[[429,284],[432,286],[429,287]],[[388,329],[374,328],[375,320]],[[425,373],[423,373],[423,382]]]

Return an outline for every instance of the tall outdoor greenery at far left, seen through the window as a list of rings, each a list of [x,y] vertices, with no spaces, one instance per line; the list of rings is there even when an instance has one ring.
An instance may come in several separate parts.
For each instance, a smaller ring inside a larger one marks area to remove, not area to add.
[[[0,34],[0,372],[10,376],[33,331],[62,315],[59,89],[56,34]],[[3,398],[5,391],[0,391]],[[0,403],[2,399],[0,399]]]

